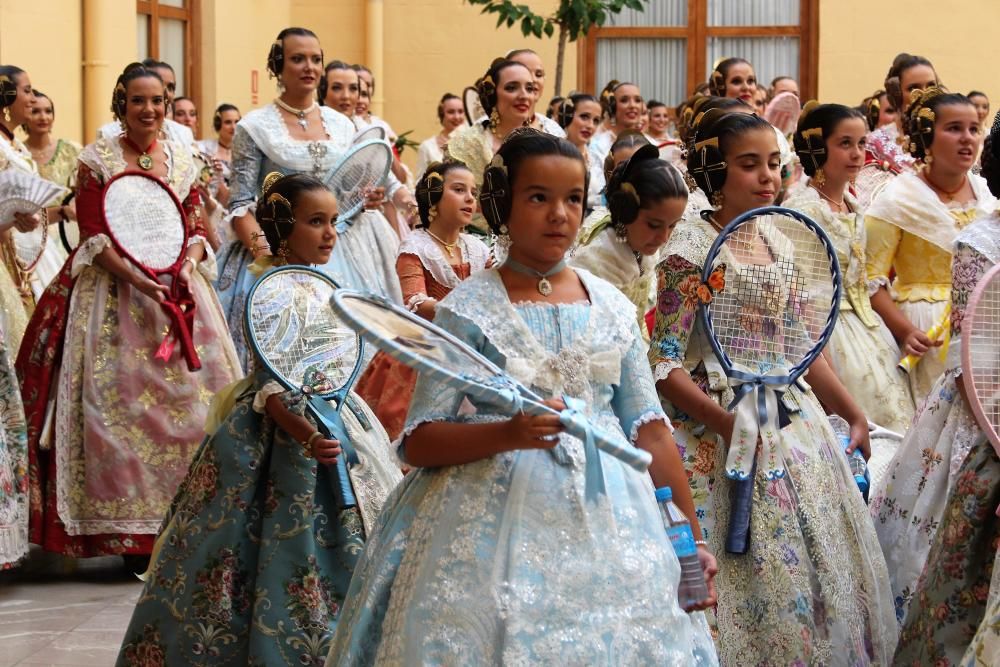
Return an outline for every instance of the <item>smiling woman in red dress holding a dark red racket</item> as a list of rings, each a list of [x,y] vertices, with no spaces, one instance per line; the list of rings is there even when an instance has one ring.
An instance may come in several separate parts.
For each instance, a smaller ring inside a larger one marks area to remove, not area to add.
[[[149,555],[212,396],[242,375],[209,282],[191,153],[158,138],[164,100],[154,70],[133,63],[118,77],[112,109],[123,133],[80,154],[82,243],[35,309],[17,360],[40,499],[31,540],[69,556]],[[141,188],[110,196],[135,180]],[[155,274],[135,258],[158,239],[169,240],[159,254],[170,268]]]

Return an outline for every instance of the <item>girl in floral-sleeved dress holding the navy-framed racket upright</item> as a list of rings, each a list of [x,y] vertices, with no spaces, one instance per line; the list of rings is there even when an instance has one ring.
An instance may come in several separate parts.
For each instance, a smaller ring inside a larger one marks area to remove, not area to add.
[[[772,254],[781,239],[762,235],[748,238],[745,247],[730,246],[731,254],[725,255],[729,264],[702,282],[720,230],[740,214],[770,205],[778,192],[780,153],[770,124],[752,114],[708,111],[694,127],[688,171],[714,210],[679,224],[662,251],[649,357],[684,452],[705,539],[720,554],[720,659],[733,665],[888,664],[896,627],[885,562],[843,445],[817,398],[851,424],[852,449],[867,453],[868,425],[822,357],[805,376],[812,391],[788,386],[780,404],[768,407],[770,414],[777,409],[779,424],[786,422],[777,433],[774,460],[755,447],[756,437],[749,443],[750,458],[741,461],[748,468],[757,463],[756,475],[750,473],[749,552],[724,553],[734,485],[727,477],[727,446],[736,423],[727,406],[735,395],[697,310],[726,290],[745,290],[759,295],[751,305],[770,312],[763,309],[781,303],[774,295],[794,289],[786,281],[809,267],[798,265],[786,274],[782,264],[787,258]],[[765,223],[750,219],[750,224]],[[827,292],[832,293],[830,280],[827,273]],[[829,310],[829,299],[827,303]],[[729,328],[749,331],[744,342],[751,347],[790,339],[794,333],[782,331],[780,319],[753,317],[749,307],[740,318],[724,323],[717,317],[716,330],[731,324]],[[761,436],[772,440],[774,434],[762,427]],[[783,468],[783,474],[769,479],[765,473],[771,465]]]

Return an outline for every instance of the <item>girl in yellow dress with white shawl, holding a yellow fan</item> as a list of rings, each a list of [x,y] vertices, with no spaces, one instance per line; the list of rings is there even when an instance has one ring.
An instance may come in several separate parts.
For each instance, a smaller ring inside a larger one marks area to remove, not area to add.
[[[868,208],[867,274],[875,312],[902,354],[920,357],[909,378],[919,405],[944,371],[946,345],[927,331],[948,330],[955,235],[997,200],[969,172],[982,136],[967,97],[928,88],[914,95],[905,123],[907,148],[923,166],[892,179]]]

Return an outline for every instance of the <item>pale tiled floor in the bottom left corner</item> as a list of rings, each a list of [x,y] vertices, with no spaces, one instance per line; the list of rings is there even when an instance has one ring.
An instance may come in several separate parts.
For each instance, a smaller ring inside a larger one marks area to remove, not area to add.
[[[114,665],[142,582],[120,558],[36,556],[0,577],[0,667]]]

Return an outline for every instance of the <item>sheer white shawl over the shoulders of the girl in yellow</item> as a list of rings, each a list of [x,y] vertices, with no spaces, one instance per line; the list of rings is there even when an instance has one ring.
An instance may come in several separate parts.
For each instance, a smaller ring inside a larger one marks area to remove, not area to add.
[[[969,174],[976,196],[975,219],[989,216],[997,208],[997,199],[986,187],[986,180]],[[958,228],[951,212],[957,207],[944,204],[924,181],[914,173],[900,174],[875,197],[866,215],[884,220],[904,232],[920,237],[951,253]]]

